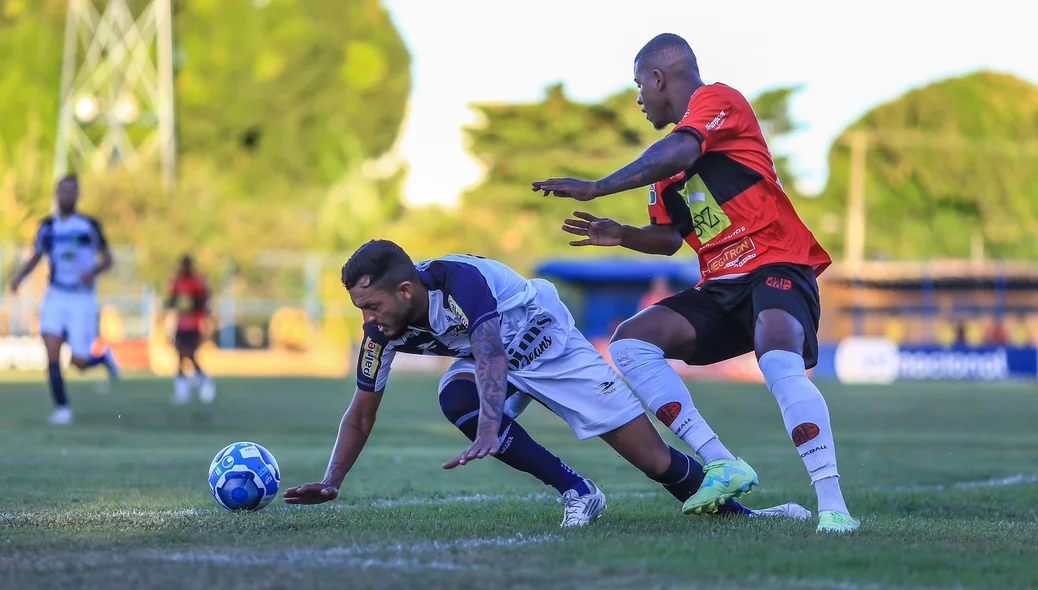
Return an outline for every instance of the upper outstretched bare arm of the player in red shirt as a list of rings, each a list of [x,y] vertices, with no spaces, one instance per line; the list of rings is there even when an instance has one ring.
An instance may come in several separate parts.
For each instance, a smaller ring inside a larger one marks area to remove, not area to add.
[[[548,179],[535,182],[532,188],[543,191],[545,196],[592,200],[668,179],[692,167],[701,153],[702,146],[695,137],[673,133],[650,145],[637,160],[603,179]]]

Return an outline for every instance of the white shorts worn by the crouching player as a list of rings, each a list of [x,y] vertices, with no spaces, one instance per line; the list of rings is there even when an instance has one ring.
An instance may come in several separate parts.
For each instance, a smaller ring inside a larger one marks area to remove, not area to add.
[[[641,403],[627,383],[574,327],[573,316],[558,298],[555,287],[546,280],[535,280],[535,284],[539,295],[537,305],[526,311],[526,325],[515,330],[523,318],[511,314],[501,321],[504,333],[516,334],[506,347],[514,360],[508,374],[509,383],[565,420],[580,440],[611,432],[645,414]],[[546,319],[551,323],[538,329]],[[527,338],[524,340],[524,337]],[[522,342],[526,343],[526,351],[540,351],[540,354],[532,359],[527,354],[521,361],[517,360],[517,343]],[[520,368],[516,370],[515,365]],[[439,391],[463,373],[475,373],[474,360],[456,360],[440,379]],[[510,415],[515,417],[525,407],[522,401],[509,400]],[[525,401],[528,403],[528,399]]]

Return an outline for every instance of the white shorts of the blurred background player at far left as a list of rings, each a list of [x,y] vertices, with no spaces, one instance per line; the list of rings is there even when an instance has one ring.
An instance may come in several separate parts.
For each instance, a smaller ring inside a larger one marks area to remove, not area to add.
[[[98,297],[49,288],[39,310],[39,332],[64,338],[73,356],[89,358],[98,339]]]

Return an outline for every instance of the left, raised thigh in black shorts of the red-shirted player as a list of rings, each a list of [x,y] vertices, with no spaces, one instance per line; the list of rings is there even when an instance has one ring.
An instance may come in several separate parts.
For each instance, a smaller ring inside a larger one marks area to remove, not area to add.
[[[660,315],[652,326],[666,334],[665,339],[674,338],[675,333],[682,338],[691,336],[683,342],[672,341],[671,348],[660,346],[667,358],[689,365],[712,365],[753,350],[749,330],[736,314],[718,302],[714,293],[688,289],[649,307],[653,309],[671,312]]]

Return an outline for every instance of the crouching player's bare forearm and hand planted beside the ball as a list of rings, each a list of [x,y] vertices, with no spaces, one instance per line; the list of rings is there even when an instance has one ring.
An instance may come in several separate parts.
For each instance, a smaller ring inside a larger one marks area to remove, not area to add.
[[[357,390],[353,402],[343,414],[338,425],[338,436],[328,460],[328,470],[323,480],[284,490],[285,504],[321,504],[335,500],[346,475],[357,462],[364,450],[367,437],[375,427],[375,417],[382,403],[382,392]]]

